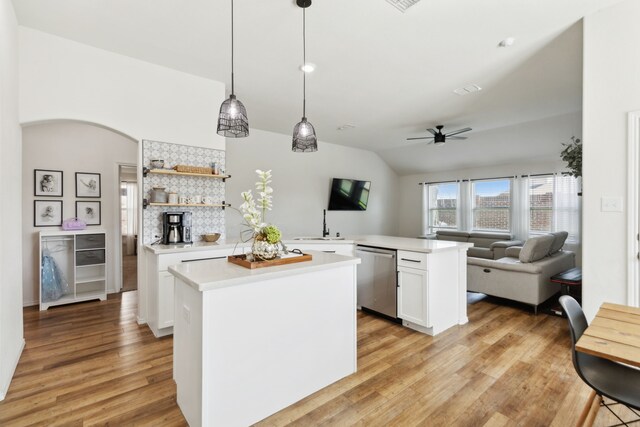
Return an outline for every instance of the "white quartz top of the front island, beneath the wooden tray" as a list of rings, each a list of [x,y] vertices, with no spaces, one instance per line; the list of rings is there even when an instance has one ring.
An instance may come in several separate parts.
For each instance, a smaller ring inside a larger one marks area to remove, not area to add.
[[[309,253],[313,256],[311,261],[254,270],[230,263],[226,259],[216,259],[174,265],[169,267],[169,272],[194,289],[204,292],[262,280],[360,264],[360,258],[317,251],[309,251]]]

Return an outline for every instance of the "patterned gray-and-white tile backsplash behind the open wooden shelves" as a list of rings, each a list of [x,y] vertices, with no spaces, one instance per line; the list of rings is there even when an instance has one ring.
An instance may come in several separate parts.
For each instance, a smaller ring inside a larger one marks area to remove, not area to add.
[[[223,150],[143,141],[143,166],[149,167],[150,161],[156,159],[164,160],[165,168],[172,168],[175,165],[211,167],[211,164],[215,162],[221,170],[225,170],[225,152]],[[164,187],[167,192],[176,192],[179,196],[211,196],[214,203],[222,203],[225,200],[224,182],[221,179],[147,174],[143,179],[144,198],[149,199],[149,193],[153,187]],[[194,242],[202,240],[202,234],[205,233],[221,233],[221,238],[225,237],[224,210],[222,208],[149,206],[143,211],[145,244],[155,242],[162,235],[162,212],[168,211],[192,213],[191,233]]]

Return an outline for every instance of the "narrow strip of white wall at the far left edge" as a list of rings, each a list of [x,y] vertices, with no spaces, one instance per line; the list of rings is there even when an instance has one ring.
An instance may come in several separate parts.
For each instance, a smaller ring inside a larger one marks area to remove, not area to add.
[[[18,122],[18,24],[10,0],[0,0],[0,400],[24,346],[20,251],[21,178]]]

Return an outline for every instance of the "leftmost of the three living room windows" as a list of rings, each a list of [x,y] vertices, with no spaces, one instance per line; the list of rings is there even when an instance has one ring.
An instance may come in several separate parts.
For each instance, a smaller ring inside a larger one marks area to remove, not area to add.
[[[427,184],[429,234],[458,228],[458,183]]]

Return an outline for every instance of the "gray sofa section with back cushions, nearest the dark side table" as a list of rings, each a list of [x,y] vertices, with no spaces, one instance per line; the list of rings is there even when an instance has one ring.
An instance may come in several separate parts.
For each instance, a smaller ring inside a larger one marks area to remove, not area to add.
[[[532,237],[522,247],[509,247],[502,258],[467,258],[467,289],[534,307],[560,290],[551,276],[575,267],[575,254],[563,251],[567,232]]]

